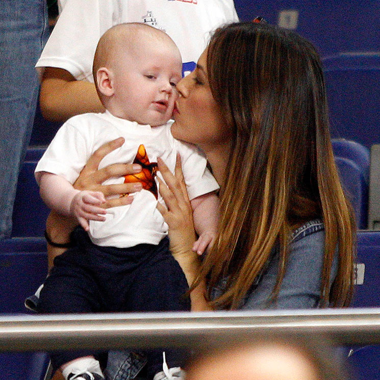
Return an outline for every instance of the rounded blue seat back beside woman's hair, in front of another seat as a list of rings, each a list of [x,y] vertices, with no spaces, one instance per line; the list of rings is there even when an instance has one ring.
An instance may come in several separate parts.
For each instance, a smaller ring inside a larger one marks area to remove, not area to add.
[[[357,225],[365,229],[368,219],[368,178],[362,168],[354,161],[343,157],[335,157],[338,173],[343,189],[351,201]]]

